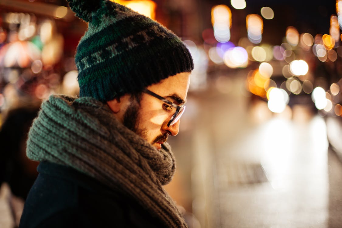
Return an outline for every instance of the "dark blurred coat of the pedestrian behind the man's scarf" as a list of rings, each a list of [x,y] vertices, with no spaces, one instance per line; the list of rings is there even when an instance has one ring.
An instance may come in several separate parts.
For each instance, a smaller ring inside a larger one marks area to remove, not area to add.
[[[0,129],[0,185],[8,183],[13,195],[25,200],[37,178],[37,165],[26,157],[26,139],[38,108],[10,110]]]

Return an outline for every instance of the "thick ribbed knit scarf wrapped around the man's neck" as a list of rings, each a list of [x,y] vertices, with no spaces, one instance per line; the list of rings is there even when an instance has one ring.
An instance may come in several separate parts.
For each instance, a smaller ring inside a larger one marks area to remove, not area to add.
[[[93,98],[50,96],[29,131],[26,153],[32,160],[73,167],[126,192],[165,227],[187,227],[162,188],[175,170],[169,145],[157,150]]]

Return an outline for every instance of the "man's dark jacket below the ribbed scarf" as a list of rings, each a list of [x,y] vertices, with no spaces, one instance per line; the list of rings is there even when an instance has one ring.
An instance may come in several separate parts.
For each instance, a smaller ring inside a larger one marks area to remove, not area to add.
[[[41,162],[19,227],[163,227],[134,199],[73,168]]]

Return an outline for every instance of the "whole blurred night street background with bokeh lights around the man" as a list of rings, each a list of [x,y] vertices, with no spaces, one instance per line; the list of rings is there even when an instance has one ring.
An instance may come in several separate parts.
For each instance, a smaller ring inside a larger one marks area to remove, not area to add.
[[[342,227],[342,1],[120,0],[193,55],[167,191],[189,227]],[[87,24],[66,0],[0,0],[0,227],[16,227],[43,99],[78,94]]]

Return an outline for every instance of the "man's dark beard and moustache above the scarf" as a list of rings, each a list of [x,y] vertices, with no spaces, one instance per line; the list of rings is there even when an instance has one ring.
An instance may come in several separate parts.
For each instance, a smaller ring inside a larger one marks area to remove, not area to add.
[[[136,98],[131,99],[131,104],[128,106],[127,110],[123,114],[123,125],[129,130],[133,131],[135,134],[139,135],[143,139],[147,140],[147,129],[139,128],[139,109],[140,102]],[[166,142],[168,140],[167,134],[158,135],[151,144],[157,142]]]

